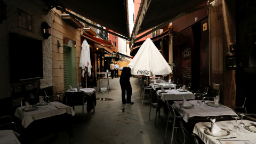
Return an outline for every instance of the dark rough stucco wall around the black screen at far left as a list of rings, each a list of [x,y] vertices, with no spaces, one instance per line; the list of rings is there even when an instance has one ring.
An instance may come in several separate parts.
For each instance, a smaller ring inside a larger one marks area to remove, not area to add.
[[[44,79],[41,79],[41,86],[52,85],[52,69],[47,67],[49,63],[51,65],[51,36],[48,39],[44,39],[42,35],[42,22],[46,21],[51,26],[50,14],[43,14],[43,11],[47,9],[45,3],[41,0],[3,0],[3,2],[7,5],[7,19],[0,24],[0,99],[11,96],[9,33],[18,33],[43,40]],[[32,15],[32,32],[18,27],[18,9]],[[17,70],[18,72],[19,70]]]

